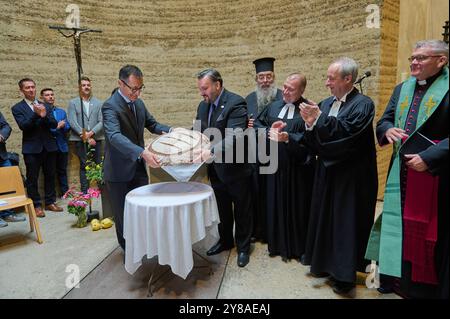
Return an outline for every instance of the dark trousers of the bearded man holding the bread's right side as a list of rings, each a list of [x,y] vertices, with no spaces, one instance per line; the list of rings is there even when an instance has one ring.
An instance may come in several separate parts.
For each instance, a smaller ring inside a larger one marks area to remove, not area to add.
[[[218,178],[213,167],[209,170],[211,186],[219,209],[220,241],[225,246],[232,246],[233,224],[235,226],[236,246],[238,252],[250,252],[250,238],[253,230],[251,210],[250,183],[251,177],[244,177],[230,184],[225,184]],[[234,208],[234,209],[233,209]]]

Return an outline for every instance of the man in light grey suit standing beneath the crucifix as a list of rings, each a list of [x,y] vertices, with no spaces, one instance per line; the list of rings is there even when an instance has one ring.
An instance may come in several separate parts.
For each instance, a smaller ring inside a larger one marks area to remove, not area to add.
[[[103,102],[92,96],[91,80],[87,76],[81,77],[79,90],[83,100],[83,112],[80,107],[80,98],[76,97],[70,100],[67,113],[71,128],[69,141],[75,142],[77,156],[80,159],[81,191],[86,193],[89,188],[89,183],[86,179],[85,166],[87,156],[82,139],[83,121],[81,116],[82,114],[84,116],[84,129],[86,131],[85,139],[89,144],[89,148],[95,149],[94,161],[100,163],[102,157],[102,142],[105,139],[101,112]]]

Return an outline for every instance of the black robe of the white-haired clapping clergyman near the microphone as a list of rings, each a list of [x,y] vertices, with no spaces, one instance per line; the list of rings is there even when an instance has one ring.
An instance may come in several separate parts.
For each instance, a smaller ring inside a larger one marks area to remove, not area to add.
[[[315,274],[355,282],[373,224],[378,190],[373,101],[353,89],[337,117],[328,116],[333,97],[303,142],[317,155],[304,261]]]

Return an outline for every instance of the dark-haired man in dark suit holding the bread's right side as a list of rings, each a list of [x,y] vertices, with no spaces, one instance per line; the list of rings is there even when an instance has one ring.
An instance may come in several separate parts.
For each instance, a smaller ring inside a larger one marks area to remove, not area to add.
[[[244,267],[250,259],[252,215],[249,189],[252,169],[247,163],[237,163],[236,140],[243,139],[243,136],[230,133],[229,129],[245,129],[246,103],[241,96],[223,87],[222,77],[214,69],[200,72],[197,75],[197,81],[200,95],[204,99],[197,109],[197,120],[201,122],[201,131],[208,136],[209,133],[214,133],[211,128],[215,128],[217,133],[211,139],[212,153],[216,158],[208,166],[208,175],[219,208],[220,240],[207,251],[207,255],[215,255],[234,247],[233,224],[236,222],[238,265]],[[217,138],[219,132],[221,139]],[[231,163],[227,161],[228,156],[225,156],[227,152],[234,154]]]

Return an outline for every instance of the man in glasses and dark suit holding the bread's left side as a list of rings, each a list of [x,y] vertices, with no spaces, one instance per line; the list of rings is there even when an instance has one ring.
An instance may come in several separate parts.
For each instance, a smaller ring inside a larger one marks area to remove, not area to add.
[[[144,88],[141,70],[126,65],[119,71],[119,89],[102,107],[105,130],[104,180],[111,197],[117,240],[125,250],[123,210],[125,195],[148,184],[145,168],[158,167],[159,161],[144,146],[144,128],[154,134],[169,132],[170,127],[158,123],[139,98]]]

